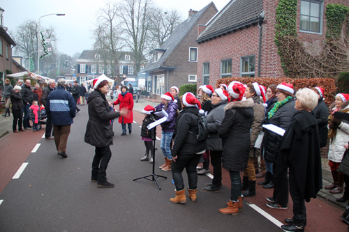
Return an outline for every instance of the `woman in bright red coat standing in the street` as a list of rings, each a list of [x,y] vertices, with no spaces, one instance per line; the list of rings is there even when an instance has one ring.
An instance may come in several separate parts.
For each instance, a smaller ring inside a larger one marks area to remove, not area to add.
[[[122,135],[126,135],[126,123],[128,124],[128,133],[132,133],[132,122],[133,122],[133,95],[128,93],[128,88],[126,86],[121,87],[121,93],[119,94],[117,100],[113,102],[114,105],[120,104],[121,109],[128,109],[128,113],[124,116],[119,117],[119,123],[122,127]]]

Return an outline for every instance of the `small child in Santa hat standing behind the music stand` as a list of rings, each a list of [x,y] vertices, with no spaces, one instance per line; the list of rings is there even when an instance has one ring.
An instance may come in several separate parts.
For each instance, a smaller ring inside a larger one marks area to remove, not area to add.
[[[154,116],[151,115],[151,112],[155,111],[154,107],[151,107],[150,105],[147,105],[147,107],[144,107],[142,110],[142,113],[145,115],[142,123],[142,130],[140,132],[140,136],[142,137],[142,140],[144,141],[145,145],[145,155],[140,159],[140,161],[147,161],[149,160],[149,150],[151,152],[150,157],[150,163],[153,162],[154,158],[154,148],[153,148],[153,140],[155,140],[155,130],[156,127],[152,128],[151,130],[148,130],[147,126],[150,123],[153,123],[155,121]]]

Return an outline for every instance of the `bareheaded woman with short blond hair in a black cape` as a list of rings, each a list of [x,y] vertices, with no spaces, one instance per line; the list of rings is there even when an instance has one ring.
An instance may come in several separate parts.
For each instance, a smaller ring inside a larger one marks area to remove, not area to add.
[[[310,88],[302,88],[297,91],[296,97],[295,109],[298,111],[283,135],[275,173],[276,176],[287,176],[289,170],[293,217],[285,219],[288,225],[281,226],[285,231],[304,231],[304,200],[309,202],[311,198],[316,198],[322,189],[318,123],[312,112],[318,104],[318,95]]]

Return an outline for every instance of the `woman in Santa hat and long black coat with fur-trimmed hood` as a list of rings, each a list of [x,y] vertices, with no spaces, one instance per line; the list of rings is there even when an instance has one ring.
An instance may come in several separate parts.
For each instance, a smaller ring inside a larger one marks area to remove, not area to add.
[[[233,100],[224,107],[225,116],[218,129],[222,139],[223,169],[229,170],[231,191],[227,208],[218,212],[224,215],[238,215],[242,208],[242,180],[240,172],[244,171],[250,151],[251,125],[253,122],[253,106],[251,98],[244,98],[246,86],[240,82],[231,82],[228,86]]]

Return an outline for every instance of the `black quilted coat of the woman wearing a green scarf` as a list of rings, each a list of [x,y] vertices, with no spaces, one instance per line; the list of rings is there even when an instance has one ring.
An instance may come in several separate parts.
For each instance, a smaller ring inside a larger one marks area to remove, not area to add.
[[[263,124],[273,124],[283,128],[283,130],[287,130],[295,112],[297,112],[297,109],[295,109],[295,100],[292,98],[292,100],[281,106],[272,118],[266,118]],[[263,129],[263,131],[265,132],[265,136],[263,137],[265,161],[276,164],[282,137],[270,130]]]

